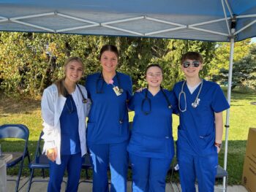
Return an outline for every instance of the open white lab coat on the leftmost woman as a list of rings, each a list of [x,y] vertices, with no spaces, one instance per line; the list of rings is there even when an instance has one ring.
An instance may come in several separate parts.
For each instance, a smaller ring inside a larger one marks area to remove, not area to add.
[[[81,155],[87,153],[86,150],[86,116],[89,114],[91,108],[91,101],[87,98],[86,88],[79,85],[83,96],[87,99],[87,103],[83,104],[83,97],[76,85],[75,91],[72,93],[72,98],[75,101],[75,106],[78,111],[78,132],[80,138],[80,148]],[[42,95],[42,126],[43,136],[42,139],[45,140],[45,145],[43,147],[42,153],[45,153],[49,148],[57,148],[57,158],[56,164],[61,164],[61,124],[59,118],[63,110],[66,98],[59,95],[58,88],[55,84],[50,85],[45,89]]]

